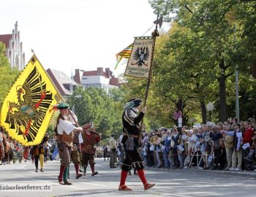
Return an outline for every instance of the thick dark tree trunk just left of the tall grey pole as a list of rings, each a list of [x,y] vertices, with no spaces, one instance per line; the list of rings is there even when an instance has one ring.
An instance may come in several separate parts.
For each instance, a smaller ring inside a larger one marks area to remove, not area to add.
[[[224,123],[227,119],[227,96],[226,96],[226,77],[224,59],[219,63],[222,72],[219,77],[219,120]]]

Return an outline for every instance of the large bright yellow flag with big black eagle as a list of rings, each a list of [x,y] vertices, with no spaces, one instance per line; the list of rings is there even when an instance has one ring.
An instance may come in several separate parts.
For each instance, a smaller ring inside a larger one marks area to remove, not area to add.
[[[4,99],[1,126],[23,145],[40,144],[53,115],[53,106],[60,100],[58,90],[33,55]]]

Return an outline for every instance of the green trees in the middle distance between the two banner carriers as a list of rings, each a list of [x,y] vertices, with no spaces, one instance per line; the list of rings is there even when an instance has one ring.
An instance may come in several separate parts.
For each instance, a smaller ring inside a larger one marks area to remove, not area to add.
[[[81,98],[76,98],[78,95]],[[108,95],[99,88],[76,88],[69,104],[75,106],[80,125],[94,122],[96,131],[102,134],[102,139],[106,139],[111,133],[121,134],[123,109],[120,100],[121,91],[118,89]]]

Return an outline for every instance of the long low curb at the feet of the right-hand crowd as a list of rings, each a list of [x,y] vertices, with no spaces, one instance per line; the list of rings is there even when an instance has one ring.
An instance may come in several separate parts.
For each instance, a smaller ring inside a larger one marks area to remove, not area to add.
[[[256,179],[256,171],[223,171],[223,170],[199,170],[199,169],[164,169],[164,168],[150,168],[145,167],[146,170],[151,171],[191,171],[191,172],[198,172],[198,173],[207,173],[207,174],[226,174],[226,175],[233,175],[238,177],[253,177]]]

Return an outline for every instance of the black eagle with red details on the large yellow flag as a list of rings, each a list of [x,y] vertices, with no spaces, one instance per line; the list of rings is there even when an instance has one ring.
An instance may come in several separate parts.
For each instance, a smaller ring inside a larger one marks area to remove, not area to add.
[[[5,123],[22,135],[24,140],[33,142],[53,101],[53,95],[47,90],[36,67],[16,90],[18,102],[7,102],[9,111]]]

